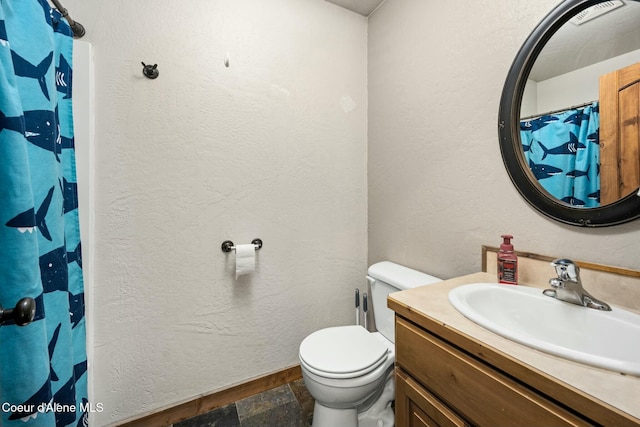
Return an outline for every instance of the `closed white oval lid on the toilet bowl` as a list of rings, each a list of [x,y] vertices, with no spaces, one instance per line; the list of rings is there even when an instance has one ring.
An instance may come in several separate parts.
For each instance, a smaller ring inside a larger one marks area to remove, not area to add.
[[[316,331],[300,344],[300,359],[319,375],[360,376],[386,360],[387,346],[362,326]]]

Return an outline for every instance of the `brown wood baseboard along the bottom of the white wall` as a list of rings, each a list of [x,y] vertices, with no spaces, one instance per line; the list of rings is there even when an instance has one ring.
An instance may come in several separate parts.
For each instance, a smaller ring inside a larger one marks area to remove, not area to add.
[[[200,396],[189,402],[155,412],[153,414],[119,424],[119,427],[158,427],[195,417],[212,409],[226,406],[254,394],[279,387],[302,378],[299,365],[274,372],[254,380],[206,396]]]

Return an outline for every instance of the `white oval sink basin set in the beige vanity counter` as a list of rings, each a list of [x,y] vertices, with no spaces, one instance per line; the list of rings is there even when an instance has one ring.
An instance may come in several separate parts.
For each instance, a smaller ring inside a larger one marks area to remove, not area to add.
[[[600,311],[525,286],[474,283],[452,289],[465,317],[505,338],[577,362],[640,376],[640,315]]]

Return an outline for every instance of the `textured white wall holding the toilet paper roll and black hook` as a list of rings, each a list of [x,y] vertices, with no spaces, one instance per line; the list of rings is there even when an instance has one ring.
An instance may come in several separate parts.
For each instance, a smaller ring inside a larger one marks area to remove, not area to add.
[[[292,366],[307,334],[353,322],[366,19],[322,0],[65,7],[95,52],[92,425]],[[220,244],[254,237],[236,283]]]

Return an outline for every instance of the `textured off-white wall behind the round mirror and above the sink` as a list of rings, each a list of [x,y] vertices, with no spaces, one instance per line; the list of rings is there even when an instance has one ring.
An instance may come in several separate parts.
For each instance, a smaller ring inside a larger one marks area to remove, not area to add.
[[[369,262],[453,277],[480,246],[640,268],[640,221],[580,229],[511,184],[498,104],[518,49],[558,0],[386,1],[369,19]],[[550,271],[552,273],[552,271]]]

